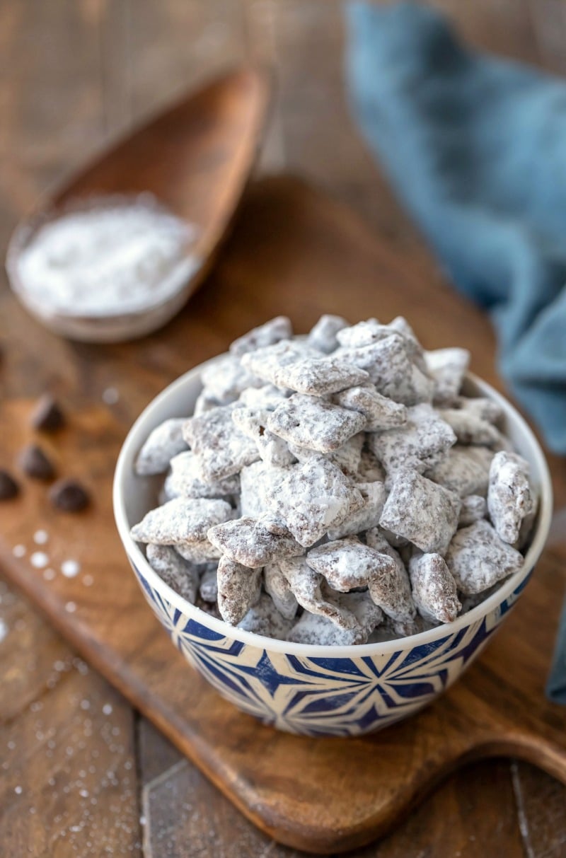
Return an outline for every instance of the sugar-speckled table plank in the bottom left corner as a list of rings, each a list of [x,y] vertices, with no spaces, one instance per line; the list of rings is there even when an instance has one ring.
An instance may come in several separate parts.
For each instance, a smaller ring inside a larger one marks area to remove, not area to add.
[[[132,711],[0,582],[3,855],[141,855]]]

